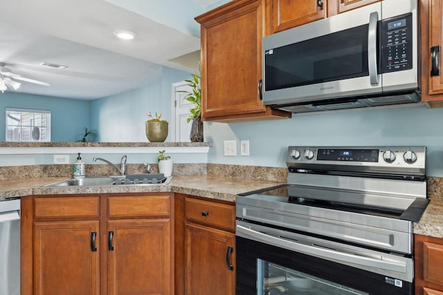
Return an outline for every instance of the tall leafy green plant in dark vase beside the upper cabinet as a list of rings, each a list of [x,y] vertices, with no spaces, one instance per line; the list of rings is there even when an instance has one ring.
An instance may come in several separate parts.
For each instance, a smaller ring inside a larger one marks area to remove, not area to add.
[[[177,91],[179,93],[188,93],[186,99],[188,102],[193,104],[190,108],[191,115],[188,117],[188,123],[192,121],[190,140],[191,142],[203,142],[203,122],[201,121],[201,77],[199,73],[191,74],[191,79],[186,79],[188,86],[190,86],[190,91]]]

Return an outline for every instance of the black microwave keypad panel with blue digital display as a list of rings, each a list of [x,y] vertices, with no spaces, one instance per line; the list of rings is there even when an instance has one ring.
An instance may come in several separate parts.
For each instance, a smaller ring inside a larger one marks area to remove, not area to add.
[[[381,21],[381,73],[413,68],[412,13]]]

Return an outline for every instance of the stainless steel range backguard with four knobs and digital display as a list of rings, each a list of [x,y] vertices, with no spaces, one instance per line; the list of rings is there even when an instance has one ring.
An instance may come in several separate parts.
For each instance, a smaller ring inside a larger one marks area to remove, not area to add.
[[[297,169],[413,171],[424,173],[426,146],[289,146],[287,166]],[[350,169],[359,170],[358,168]]]

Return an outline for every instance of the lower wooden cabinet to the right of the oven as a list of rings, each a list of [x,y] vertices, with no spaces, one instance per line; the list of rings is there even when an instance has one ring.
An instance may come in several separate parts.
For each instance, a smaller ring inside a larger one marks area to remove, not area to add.
[[[414,239],[415,294],[443,295],[443,238]]]

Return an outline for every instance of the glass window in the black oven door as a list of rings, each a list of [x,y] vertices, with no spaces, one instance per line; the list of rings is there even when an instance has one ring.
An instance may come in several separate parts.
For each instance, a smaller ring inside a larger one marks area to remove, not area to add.
[[[262,295],[368,295],[366,292],[338,285],[310,274],[282,267],[269,261],[257,259],[257,290]]]

